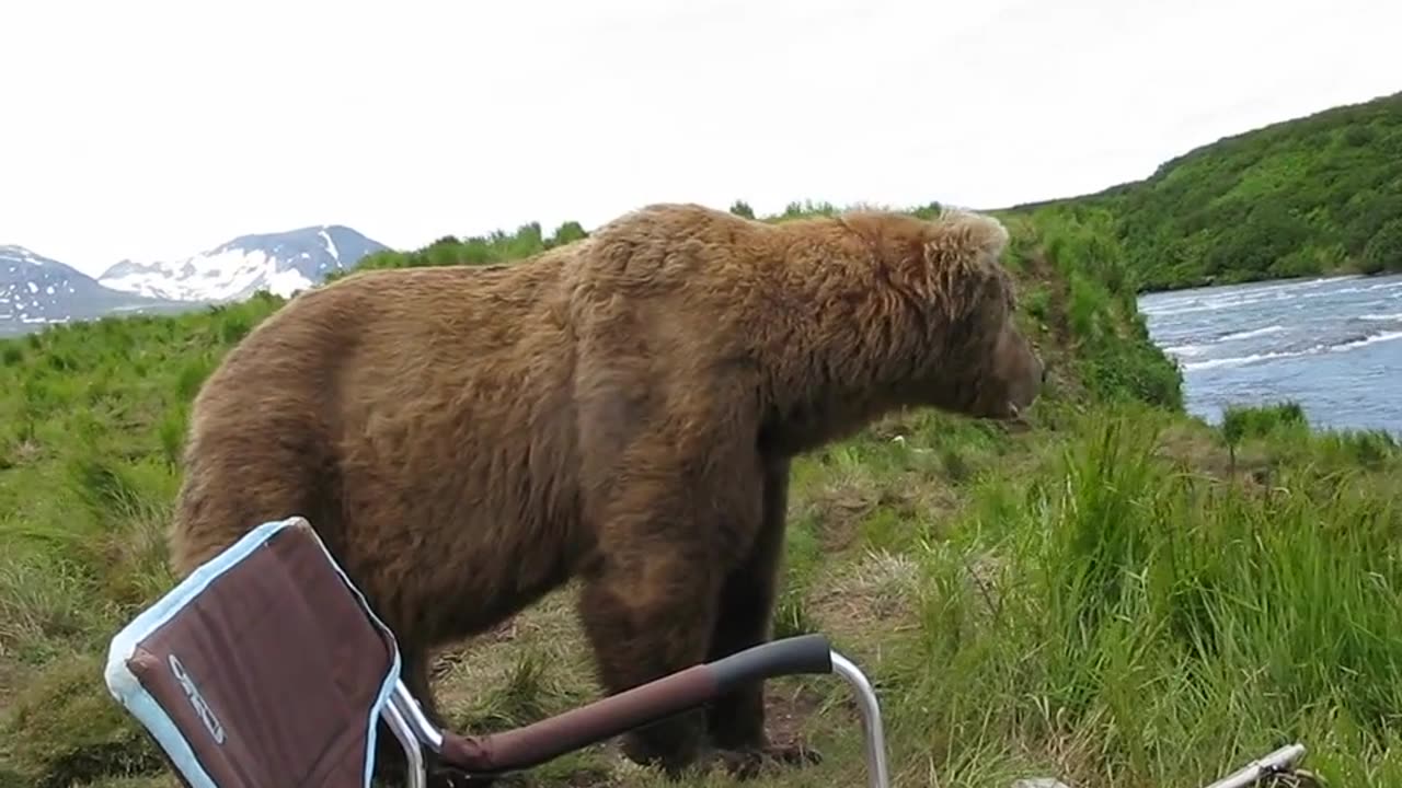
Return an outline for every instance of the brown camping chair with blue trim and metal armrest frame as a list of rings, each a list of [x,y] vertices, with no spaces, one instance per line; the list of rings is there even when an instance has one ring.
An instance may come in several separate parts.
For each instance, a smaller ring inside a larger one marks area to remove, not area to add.
[[[422,788],[425,747],[470,777],[496,775],[799,673],[854,687],[869,784],[885,788],[876,695],[823,635],[758,645],[523,728],[442,731],[400,680],[394,634],[311,524],[289,517],[254,529],[123,627],[105,677],[188,788],[369,788],[379,719],[404,747],[408,785]]]

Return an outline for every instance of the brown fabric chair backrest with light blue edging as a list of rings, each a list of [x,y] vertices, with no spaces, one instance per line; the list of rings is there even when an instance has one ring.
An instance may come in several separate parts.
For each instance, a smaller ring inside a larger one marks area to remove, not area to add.
[[[111,642],[107,684],[193,788],[367,788],[393,632],[303,517],[264,523]]]

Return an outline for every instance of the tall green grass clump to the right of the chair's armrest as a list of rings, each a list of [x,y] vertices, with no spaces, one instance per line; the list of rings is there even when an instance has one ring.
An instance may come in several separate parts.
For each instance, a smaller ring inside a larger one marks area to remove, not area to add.
[[[1200,785],[1304,740],[1333,784],[1398,784],[1396,454],[1281,458],[1255,488],[1165,456],[1155,414],[1082,428],[911,554],[920,631],[882,674],[907,768]]]

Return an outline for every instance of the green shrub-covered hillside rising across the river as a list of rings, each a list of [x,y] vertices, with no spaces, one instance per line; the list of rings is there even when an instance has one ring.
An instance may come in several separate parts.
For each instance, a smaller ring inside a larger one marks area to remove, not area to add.
[[[1113,210],[1150,290],[1402,271],[1402,93],[1221,139],[1144,181],[1040,205]]]

